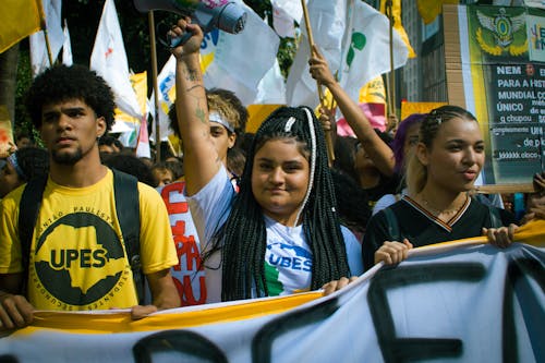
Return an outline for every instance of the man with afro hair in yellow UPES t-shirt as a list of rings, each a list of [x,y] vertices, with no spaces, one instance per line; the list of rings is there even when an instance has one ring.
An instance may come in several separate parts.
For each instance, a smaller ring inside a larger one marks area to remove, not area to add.
[[[170,268],[178,263],[159,194],[137,184],[140,256],[152,305],[138,305],[98,138],[113,123],[113,95],[85,66],[56,65],[38,75],[27,109],[50,157],[49,179],[23,266],[19,203],[24,185],[0,203],[0,330],[32,323],[34,310],[131,307],[133,318],[180,306]],[[28,271],[28,280],[24,281]],[[26,290],[23,287],[26,286]]]

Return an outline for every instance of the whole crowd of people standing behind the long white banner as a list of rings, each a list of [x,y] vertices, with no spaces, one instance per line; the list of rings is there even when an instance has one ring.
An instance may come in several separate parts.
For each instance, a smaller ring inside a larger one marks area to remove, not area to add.
[[[35,310],[129,308],[140,319],[327,294],[410,249],[476,235],[504,249],[518,226],[545,218],[543,173],[521,220],[472,194],[485,142],[463,108],[379,132],[315,48],[311,75],[355,137],[337,136],[334,111],[318,118],[307,106],[280,107],[249,134],[237,95],[204,84],[202,29],[181,19],[170,32],[191,34],[171,49],[181,157],[138,158],[110,135],[113,95],[87,68],[55,65],[34,80],[26,107],[44,146],[17,137],[0,172],[0,330],[32,324]],[[29,205],[34,220],[22,217]]]

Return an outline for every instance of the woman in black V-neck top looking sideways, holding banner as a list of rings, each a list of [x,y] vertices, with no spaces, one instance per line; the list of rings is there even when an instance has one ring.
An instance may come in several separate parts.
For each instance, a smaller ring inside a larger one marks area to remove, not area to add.
[[[514,216],[469,195],[484,164],[484,140],[473,114],[441,106],[421,123],[419,144],[407,168],[408,195],[374,215],[363,239],[366,269],[400,263],[413,246],[487,235],[506,247]],[[509,227],[504,227],[509,226]]]

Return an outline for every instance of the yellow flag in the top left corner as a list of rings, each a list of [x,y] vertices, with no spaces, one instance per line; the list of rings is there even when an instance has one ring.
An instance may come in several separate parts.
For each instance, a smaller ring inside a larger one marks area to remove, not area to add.
[[[40,27],[40,0],[0,1],[0,53]]]

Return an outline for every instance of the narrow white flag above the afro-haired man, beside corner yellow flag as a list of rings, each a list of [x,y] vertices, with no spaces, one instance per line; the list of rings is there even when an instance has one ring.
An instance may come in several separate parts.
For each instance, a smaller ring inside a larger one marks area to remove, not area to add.
[[[41,3],[46,14],[46,29],[51,59],[55,63],[64,43],[61,25],[62,0],[43,0]],[[34,76],[51,66],[44,31],[31,35],[31,64]]]

